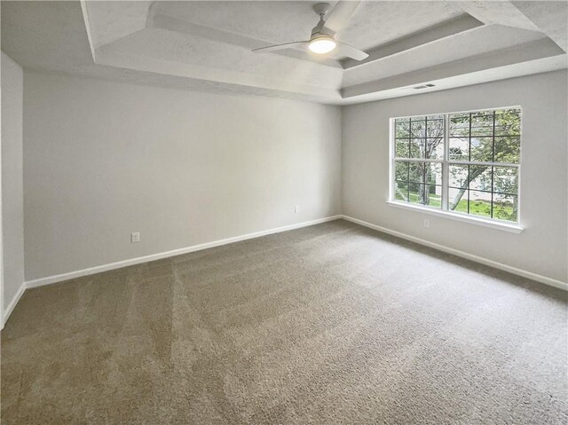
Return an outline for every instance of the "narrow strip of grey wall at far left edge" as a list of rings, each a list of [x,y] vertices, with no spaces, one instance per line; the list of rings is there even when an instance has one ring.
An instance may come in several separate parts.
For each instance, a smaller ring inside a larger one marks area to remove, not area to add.
[[[5,311],[24,284],[23,72],[2,52],[2,220]]]

